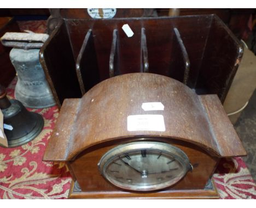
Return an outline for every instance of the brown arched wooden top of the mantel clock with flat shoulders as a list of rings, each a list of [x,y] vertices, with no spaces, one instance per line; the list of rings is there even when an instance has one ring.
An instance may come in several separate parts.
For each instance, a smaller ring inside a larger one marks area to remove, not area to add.
[[[62,140],[56,135],[65,128],[62,119],[57,120],[45,160],[73,160],[91,146],[135,137],[184,140],[219,157],[245,155],[217,96],[207,95],[202,100],[193,90],[166,76],[135,73],[107,79],[89,90],[82,99],[72,100],[72,103],[77,102],[75,106],[80,102],[79,107],[75,107],[77,109],[69,105],[69,100],[62,106],[61,114],[73,112],[73,116],[63,115],[69,120],[74,119],[73,130],[71,134],[63,135],[67,139]],[[164,111],[144,111],[141,106],[145,102],[161,102]],[[127,117],[141,114],[163,115],[166,130],[128,131]],[[62,151],[55,154],[51,148],[59,143],[66,148],[65,154]]]

